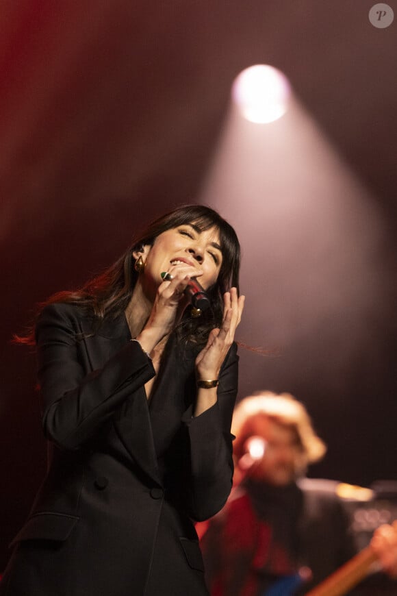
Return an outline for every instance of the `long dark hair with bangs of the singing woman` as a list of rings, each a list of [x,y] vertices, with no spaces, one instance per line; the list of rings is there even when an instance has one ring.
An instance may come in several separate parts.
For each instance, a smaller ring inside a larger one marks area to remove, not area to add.
[[[196,345],[205,344],[210,330],[222,322],[223,294],[231,287],[239,289],[240,243],[233,227],[214,209],[203,205],[181,206],[149,223],[127,251],[103,273],[78,290],[52,295],[38,305],[36,316],[47,304],[63,302],[76,304],[88,314],[94,314],[98,326],[105,317],[116,318],[127,308],[138,279],[133,251],[142,249],[142,245],[153,245],[155,238],[166,230],[187,223],[194,224],[201,232],[216,227],[220,236],[222,264],[216,283],[207,290],[212,308],[197,319],[192,318],[187,309],[177,328],[179,338]],[[34,326],[25,336],[14,336],[14,341],[34,345]]]

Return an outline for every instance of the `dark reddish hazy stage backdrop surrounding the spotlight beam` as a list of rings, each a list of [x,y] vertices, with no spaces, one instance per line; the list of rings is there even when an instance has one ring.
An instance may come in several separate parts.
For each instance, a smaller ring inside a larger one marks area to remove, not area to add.
[[[23,332],[36,302],[110,264],[142,219],[196,200],[231,82],[251,64],[273,64],[290,78],[370,192],[383,221],[375,265],[383,284],[348,358],[340,349],[353,310],[301,330],[279,358],[241,351],[239,397],[266,388],[305,401],[329,444],[311,474],[365,485],[396,477],[397,23],[372,27],[372,4],[1,3],[0,569],[45,470],[34,356],[10,344],[12,333]],[[255,206],[247,211],[245,202],[241,213],[249,223]],[[266,345],[266,300],[250,293],[264,260],[255,241],[257,259],[243,264],[239,338]]]

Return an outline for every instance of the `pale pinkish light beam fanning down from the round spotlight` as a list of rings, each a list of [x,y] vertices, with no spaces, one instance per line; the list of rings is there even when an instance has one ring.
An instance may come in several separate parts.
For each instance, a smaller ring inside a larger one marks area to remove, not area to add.
[[[240,283],[250,308],[238,334],[296,358],[286,367],[284,356],[255,361],[242,351],[241,395],[264,378],[294,386],[307,362],[314,383],[345,395],[347,363],[364,345],[376,353],[376,313],[391,305],[381,212],[293,90],[274,125],[254,125],[230,108],[200,202],[225,214],[244,247]]]

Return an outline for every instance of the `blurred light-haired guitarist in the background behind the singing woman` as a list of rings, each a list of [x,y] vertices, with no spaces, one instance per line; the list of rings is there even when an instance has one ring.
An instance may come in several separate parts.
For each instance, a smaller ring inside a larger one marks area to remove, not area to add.
[[[246,397],[235,409],[232,432],[233,492],[198,528],[211,595],[307,593],[356,554],[337,483],[305,478],[326,446],[289,394]],[[396,522],[374,532],[370,549],[381,569],[397,577]]]

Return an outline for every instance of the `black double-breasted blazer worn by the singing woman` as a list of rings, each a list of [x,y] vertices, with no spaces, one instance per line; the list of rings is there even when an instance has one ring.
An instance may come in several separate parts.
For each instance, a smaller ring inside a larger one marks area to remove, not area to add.
[[[155,371],[125,316],[99,330],[55,303],[36,327],[47,477],[0,584],[4,596],[203,596],[191,519],[222,508],[233,475],[235,344],[218,402],[192,418],[192,350],[170,338]]]

